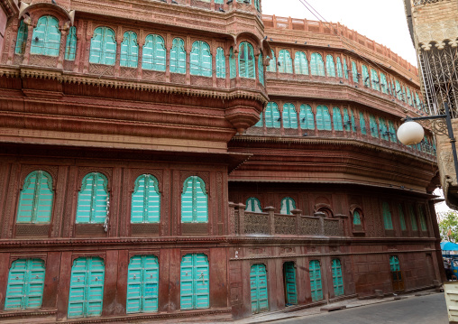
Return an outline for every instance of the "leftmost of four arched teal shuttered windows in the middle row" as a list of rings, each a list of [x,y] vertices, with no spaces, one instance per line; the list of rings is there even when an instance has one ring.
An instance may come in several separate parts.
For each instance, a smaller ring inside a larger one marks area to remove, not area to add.
[[[33,171],[23,181],[19,195],[17,223],[50,223],[52,213],[52,178],[46,171]]]

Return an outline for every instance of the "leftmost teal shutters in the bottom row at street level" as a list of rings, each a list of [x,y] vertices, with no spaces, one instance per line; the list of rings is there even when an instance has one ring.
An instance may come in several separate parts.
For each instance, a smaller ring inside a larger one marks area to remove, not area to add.
[[[40,309],[44,275],[44,262],[41,259],[14,261],[8,274],[5,310]]]

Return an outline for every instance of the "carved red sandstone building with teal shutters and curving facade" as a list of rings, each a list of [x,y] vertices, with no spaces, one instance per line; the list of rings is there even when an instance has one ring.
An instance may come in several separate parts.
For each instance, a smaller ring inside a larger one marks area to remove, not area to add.
[[[441,279],[417,69],[259,0],[1,0],[0,320],[230,319]]]

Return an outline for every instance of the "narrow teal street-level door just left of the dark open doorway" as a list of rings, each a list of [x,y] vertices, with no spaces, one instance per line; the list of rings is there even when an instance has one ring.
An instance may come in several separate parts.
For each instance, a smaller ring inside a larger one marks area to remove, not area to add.
[[[250,269],[250,290],[252,295],[252,314],[269,310],[267,272],[264,264],[252,265]]]

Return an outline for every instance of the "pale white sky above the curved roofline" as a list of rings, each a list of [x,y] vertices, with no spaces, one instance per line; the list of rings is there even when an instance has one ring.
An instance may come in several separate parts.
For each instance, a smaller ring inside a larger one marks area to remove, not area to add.
[[[305,0],[327,22],[342,23],[417,66],[403,0]],[[262,14],[317,20],[299,0],[262,0]]]

